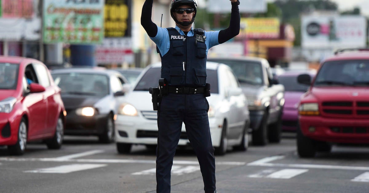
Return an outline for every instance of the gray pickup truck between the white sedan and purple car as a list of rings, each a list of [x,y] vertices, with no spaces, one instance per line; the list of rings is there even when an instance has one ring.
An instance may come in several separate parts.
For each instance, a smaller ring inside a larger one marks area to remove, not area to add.
[[[280,142],[284,86],[273,79],[269,62],[264,58],[208,58],[227,64],[236,74],[248,100],[252,142],[265,145]]]

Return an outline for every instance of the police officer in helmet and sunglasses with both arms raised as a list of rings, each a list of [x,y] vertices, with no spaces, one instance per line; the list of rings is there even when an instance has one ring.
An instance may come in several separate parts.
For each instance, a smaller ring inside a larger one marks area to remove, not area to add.
[[[156,150],[156,192],[170,193],[170,171],[179,142],[182,122],[187,137],[199,160],[206,193],[215,190],[215,158],[211,143],[206,92],[206,57],[213,46],[238,35],[239,1],[232,5],[230,25],[220,31],[192,29],[196,17],[195,0],[172,0],[170,16],[175,28],[161,28],[151,21],[153,0],[142,7],[141,25],[159,48],[162,59],[161,78],[165,78],[168,94],[158,111],[158,147]]]

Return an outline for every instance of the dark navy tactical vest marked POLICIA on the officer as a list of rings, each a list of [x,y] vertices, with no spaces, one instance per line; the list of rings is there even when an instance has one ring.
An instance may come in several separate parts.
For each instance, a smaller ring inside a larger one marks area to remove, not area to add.
[[[168,85],[205,86],[206,37],[204,31],[195,29],[195,35],[189,37],[180,35],[175,28],[167,29],[170,48],[168,53],[161,56],[161,78],[165,78]]]

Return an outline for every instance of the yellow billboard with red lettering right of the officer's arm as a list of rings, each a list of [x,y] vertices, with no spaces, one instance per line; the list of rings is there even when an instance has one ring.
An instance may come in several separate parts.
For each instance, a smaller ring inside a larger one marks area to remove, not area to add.
[[[275,39],[279,37],[278,18],[241,18],[239,36],[248,39]]]

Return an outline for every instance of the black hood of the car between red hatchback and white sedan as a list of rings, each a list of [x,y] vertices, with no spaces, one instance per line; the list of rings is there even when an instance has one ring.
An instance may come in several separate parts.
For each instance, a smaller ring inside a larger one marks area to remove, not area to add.
[[[62,100],[66,109],[78,107],[93,107],[104,96],[81,96],[75,94],[62,94]]]

